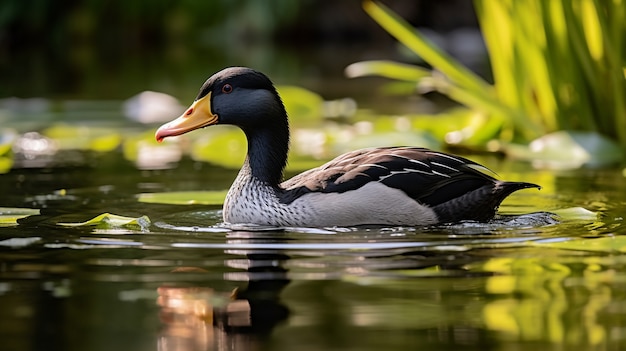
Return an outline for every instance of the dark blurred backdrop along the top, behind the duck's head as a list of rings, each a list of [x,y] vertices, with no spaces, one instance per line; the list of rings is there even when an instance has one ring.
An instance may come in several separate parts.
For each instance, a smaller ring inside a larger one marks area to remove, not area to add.
[[[439,33],[433,38],[455,56],[466,57],[459,50],[472,44],[465,63],[489,72],[472,2],[385,4]],[[363,86],[343,76],[353,62],[416,61],[358,0],[7,0],[0,52],[0,97],[107,100],[155,90],[185,103],[226,66],[250,66],[334,98]]]

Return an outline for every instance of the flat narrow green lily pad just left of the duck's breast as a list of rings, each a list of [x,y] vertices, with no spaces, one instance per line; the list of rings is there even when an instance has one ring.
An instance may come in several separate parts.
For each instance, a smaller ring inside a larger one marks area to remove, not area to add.
[[[222,205],[226,193],[227,190],[143,193],[138,195],[138,201],[170,205]]]

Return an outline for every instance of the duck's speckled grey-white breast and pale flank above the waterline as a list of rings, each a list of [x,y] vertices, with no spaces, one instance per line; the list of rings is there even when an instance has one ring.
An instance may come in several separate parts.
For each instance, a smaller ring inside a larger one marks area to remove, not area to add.
[[[272,188],[240,174],[224,202],[224,222],[294,227],[429,225],[437,223],[437,216],[401,190],[378,182],[344,193],[309,193],[283,204]]]

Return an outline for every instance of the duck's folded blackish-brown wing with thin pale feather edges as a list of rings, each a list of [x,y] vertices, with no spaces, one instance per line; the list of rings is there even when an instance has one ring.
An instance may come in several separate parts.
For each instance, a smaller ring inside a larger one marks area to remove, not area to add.
[[[363,149],[285,181],[279,197],[281,202],[291,203],[307,193],[342,193],[378,181],[420,203],[435,206],[496,182],[477,168],[484,167],[424,148]]]

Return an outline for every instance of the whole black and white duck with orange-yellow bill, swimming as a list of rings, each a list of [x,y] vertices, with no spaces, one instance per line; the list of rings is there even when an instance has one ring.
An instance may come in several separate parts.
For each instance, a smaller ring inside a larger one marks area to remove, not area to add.
[[[501,181],[463,157],[422,147],[351,151],[283,180],[289,119],[274,84],[247,67],[212,75],[191,106],[163,124],[163,139],[213,125],[246,136],[245,161],[226,195],[224,224],[273,227],[431,226],[487,222],[510,194],[540,188]]]

